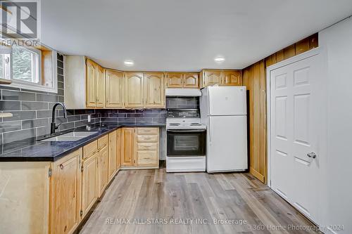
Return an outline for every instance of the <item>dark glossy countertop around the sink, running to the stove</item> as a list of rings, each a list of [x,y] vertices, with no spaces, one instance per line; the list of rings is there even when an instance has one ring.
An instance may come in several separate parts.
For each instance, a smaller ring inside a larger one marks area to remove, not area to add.
[[[13,143],[0,145],[0,162],[54,162],[61,157],[68,155],[68,153],[73,152],[122,126],[162,127],[165,126],[165,124],[92,124],[58,133],[64,134],[70,131],[98,131],[98,133],[82,138],[79,141],[44,142],[38,141],[41,138],[45,138],[43,136],[39,138],[28,138],[23,141],[15,141]]]

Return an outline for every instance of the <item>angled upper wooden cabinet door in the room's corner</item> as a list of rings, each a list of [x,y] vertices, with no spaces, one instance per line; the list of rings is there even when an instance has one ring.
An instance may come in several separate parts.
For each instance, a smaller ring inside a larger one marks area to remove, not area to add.
[[[106,70],[106,108],[123,107],[123,73]]]

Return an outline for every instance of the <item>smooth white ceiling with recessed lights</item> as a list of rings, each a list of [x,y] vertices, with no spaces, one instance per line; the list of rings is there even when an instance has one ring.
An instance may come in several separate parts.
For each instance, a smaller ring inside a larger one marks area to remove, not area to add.
[[[120,70],[241,69],[349,15],[351,0],[42,0],[42,41]]]

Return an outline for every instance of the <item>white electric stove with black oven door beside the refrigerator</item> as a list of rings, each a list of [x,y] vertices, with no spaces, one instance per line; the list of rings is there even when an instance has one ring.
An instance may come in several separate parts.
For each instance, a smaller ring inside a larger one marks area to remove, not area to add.
[[[199,110],[168,110],[166,171],[206,171],[206,125]]]

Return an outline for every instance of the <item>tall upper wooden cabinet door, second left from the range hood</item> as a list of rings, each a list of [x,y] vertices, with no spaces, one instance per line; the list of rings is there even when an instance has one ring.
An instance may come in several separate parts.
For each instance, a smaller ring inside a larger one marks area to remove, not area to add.
[[[144,74],[125,72],[125,107],[144,107]]]

